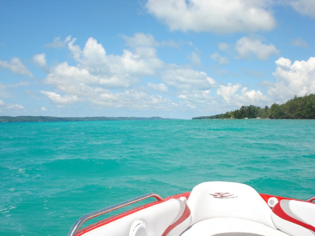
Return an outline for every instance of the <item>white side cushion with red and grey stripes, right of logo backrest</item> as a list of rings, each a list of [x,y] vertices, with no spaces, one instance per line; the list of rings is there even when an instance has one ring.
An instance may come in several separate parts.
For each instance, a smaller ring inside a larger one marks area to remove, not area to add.
[[[315,235],[315,204],[297,200],[281,200],[272,209],[274,225],[292,236]]]

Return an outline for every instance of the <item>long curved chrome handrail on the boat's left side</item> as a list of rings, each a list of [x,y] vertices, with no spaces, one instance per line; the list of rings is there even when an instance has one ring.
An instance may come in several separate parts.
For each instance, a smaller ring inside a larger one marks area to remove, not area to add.
[[[106,207],[104,209],[101,209],[101,210],[98,210],[98,211],[94,211],[94,212],[91,212],[91,213],[88,213],[84,216],[81,216],[75,223],[74,225],[72,226],[70,232],[68,233],[68,236],[74,236],[78,229],[81,227],[81,225],[89,220],[89,219],[92,219],[96,216],[100,216],[100,215],[103,215],[105,213],[108,213],[110,211],[114,211],[114,210],[117,210],[119,208],[122,208],[124,206],[128,206],[128,205],[131,205],[133,203],[136,203],[136,202],[139,202],[139,201],[142,201],[144,199],[147,199],[147,198],[150,198],[150,197],[154,197],[155,199],[157,199],[158,201],[163,201],[163,198],[161,198],[159,195],[157,194],[153,194],[153,193],[149,193],[149,194],[145,194],[145,195],[142,195],[140,197],[136,197],[134,199],[130,199],[128,201],[124,201],[122,203],[118,203],[116,205],[112,205],[112,206],[109,206],[109,207]]]

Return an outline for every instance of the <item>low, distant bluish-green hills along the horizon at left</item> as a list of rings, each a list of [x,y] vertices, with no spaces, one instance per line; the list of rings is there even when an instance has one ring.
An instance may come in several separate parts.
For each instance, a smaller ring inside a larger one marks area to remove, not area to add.
[[[53,116],[0,116],[0,122],[51,122],[51,121],[147,121],[174,120],[162,117],[53,117]]]

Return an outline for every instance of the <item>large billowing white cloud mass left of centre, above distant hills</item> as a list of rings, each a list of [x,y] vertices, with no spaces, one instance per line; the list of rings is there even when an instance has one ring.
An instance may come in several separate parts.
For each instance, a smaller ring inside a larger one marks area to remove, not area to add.
[[[135,34],[134,38],[125,39],[134,48],[133,51],[123,50],[121,55],[108,55],[94,38],[89,38],[83,49],[75,44],[75,38],[72,39],[68,42],[68,48],[78,64],[73,66],[67,62],[60,63],[51,68],[45,79],[47,84],[53,85],[65,95],[49,91],[41,93],[59,105],[84,100],[108,107],[146,109],[151,104],[159,109],[160,105],[173,106],[169,99],[149,94],[148,90],[142,91],[141,87],[135,86],[141,78],[154,75],[164,66],[157,58],[156,49],[152,47],[152,44],[156,44],[154,38]],[[148,86],[159,92],[168,92],[163,83],[149,83]],[[118,92],[112,92],[112,89]]]

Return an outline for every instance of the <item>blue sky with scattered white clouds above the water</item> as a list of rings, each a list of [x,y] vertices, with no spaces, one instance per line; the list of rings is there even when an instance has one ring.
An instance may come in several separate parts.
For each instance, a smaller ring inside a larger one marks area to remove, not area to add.
[[[0,0],[0,116],[191,119],[311,93],[314,0]]]

